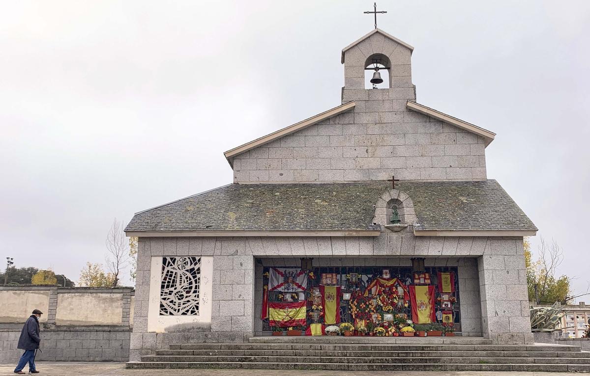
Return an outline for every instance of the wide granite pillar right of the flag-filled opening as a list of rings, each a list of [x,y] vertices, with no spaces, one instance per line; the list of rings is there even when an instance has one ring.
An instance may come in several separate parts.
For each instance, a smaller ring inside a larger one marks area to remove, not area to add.
[[[484,337],[495,344],[533,343],[522,238],[491,239],[478,271]]]

